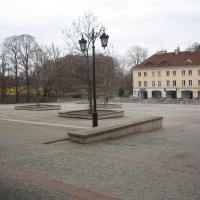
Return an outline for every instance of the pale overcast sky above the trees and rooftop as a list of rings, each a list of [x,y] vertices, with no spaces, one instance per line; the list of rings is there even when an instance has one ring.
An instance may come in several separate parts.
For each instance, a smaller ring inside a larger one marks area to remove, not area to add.
[[[135,45],[151,56],[200,43],[200,0],[0,0],[0,43],[29,34],[39,44],[63,47],[62,30],[88,11],[106,26],[119,55]]]

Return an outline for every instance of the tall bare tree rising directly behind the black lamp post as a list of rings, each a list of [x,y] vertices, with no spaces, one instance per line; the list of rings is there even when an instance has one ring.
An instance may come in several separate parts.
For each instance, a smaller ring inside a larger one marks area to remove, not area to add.
[[[77,21],[72,23],[71,29],[65,29],[63,31],[64,41],[66,43],[66,48],[71,55],[78,56],[78,60],[71,60],[70,66],[71,75],[76,79],[81,80],[79,86],[82,90],[88,93],[88,98],[90,102],[90,112],[92,113],[92,96],[93,96],[93,74],[92,74],[92,40],[88,37],[87,40],[87,50],[82,54],[78,41],[80,40],[81,34],[84,32],[86,35],[91,35],[92,30],[94,32],[99,32],[102,28],[97,20],[97,17],[92,13],[85,13],[82,18],[78,18]],[[98,53],[99,57],[101,54]],[[98,62],[98,59],[96,59]],[[104,63],[105,65],[105,63]],[[96,67],[98,69],[98,67]],[[96,86],[100,88],[103,83],[110,77],[111,72],[110,68],[104,67],[104,71],[96,72]]]

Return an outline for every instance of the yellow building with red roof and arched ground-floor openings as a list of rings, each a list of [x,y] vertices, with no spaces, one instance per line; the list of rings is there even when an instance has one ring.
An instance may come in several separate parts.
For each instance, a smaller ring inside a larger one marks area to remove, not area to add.
[[[133,69],[133,97],[200,98],[200,46],[158,51]]]

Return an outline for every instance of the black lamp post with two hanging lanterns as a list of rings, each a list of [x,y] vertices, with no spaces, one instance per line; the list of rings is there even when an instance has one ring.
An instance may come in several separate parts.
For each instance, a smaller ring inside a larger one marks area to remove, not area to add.
[[[102,30],[104,30],[104,31],[101,34]],[[81,40],[79,40],[79,44],[80,44],[81,51],[83,53],[85,51],[87,51],[87,48],[86,48],[87,41],[84,39],[83,34],[90,41],[92,41],[92,57],[93,57],[93,105],[94,105],[94,110],[93,110],[93,113],[92,113],[92,120],[93,120],[93,127],[96,127],[96,126],[98,126],[98,113],[97,113],[97,105],[96,105],[95,46],[94,46],[94,43],[95,43],[96,39],[99,37],[99,35],[101,34],[100,35],[101,45],[105,49],[105,47],[107,47],[107,44],[108,44],[108,38],[109,38],[109,36],[106,35],[105,29],[103,29],[103,27],[100,29],[99,32],[94,32],[94,29],[92,29],[92,33],[89,33],[89,34],[82,33],[82,38],[81,38]]]

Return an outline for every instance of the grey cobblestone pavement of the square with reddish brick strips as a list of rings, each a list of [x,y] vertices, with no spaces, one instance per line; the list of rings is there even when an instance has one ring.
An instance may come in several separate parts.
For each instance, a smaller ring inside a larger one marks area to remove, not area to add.
[[[67,132],[91,120],[0,105],[0,199],[199,200],[200,105],[123,103],[116,110],[125,116],[99,126],[163,116],[163,129],[83,145]]]

